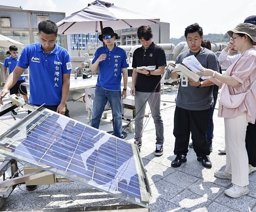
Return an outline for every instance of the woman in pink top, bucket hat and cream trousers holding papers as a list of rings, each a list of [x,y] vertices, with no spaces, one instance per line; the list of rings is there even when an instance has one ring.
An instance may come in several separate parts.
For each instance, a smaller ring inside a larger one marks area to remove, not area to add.
[[[227,86],[231,95],[244,93],[256,79],[256,25],[242,23],[228,31],[233,39],[233,47],[241,52],[241,57],[228,67],[225,74],[214,70],[204,69],[197,74],[213,77]],[[255,85],[256,83],[254,83]],[[224,92],[219,94],[223,99]],[[232,187],[226,189],[224,194],[233,198],[247,195],[249,189],[248,156],[245,147],[245,135],[248,122],[254,124],[256,119],[256,86],[252,86],[242,103],[236,108],[229,108],[219,102],[219,117],[224,117],[226,142],[226,169],[216,171],[214,176],[231,179]]]

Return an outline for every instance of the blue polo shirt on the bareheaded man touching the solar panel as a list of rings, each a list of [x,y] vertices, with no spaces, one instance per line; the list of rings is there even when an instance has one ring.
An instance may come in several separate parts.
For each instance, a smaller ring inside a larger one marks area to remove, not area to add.
[[[71,72],[70,56],[64,48],[55,44],[54,50],[46,54],[41,43],[27,45],[21,52],[18,64],[29,66],[31,104],[47,106],[60,104],[62,97],[62,74]]]

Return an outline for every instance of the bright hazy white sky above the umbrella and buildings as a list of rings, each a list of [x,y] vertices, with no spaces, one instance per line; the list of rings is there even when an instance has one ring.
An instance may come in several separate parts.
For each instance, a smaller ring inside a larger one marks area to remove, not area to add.
[[[94,0],[0,0],[0,5],[28,10],[65,12],[66,16]],[[117,7],[160,18],[170,23],[170,38],[180,38],[193,23],[203,34],[225,34],[248,16],[256,15],[255,0],[105,0]]]

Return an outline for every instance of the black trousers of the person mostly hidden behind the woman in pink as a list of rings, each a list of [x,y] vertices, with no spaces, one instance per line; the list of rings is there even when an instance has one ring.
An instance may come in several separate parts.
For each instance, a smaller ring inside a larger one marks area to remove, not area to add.
[[[256,167],[256,124],[248,123],[247,125],[245,147],[248,154],[249,164]]]

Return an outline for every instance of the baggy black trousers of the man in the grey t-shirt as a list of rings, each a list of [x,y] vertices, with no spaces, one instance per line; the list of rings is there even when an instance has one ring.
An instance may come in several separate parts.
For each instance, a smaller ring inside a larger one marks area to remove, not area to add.
[[[175,155],[187,155],[190,132],[196,156],[210,155],[209,143],[205,138],[209,125],[209,115],[210,108],[203,111],[190,111],[176,106],[173,128]]]

